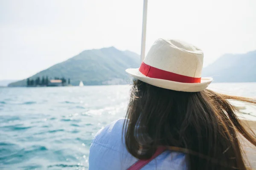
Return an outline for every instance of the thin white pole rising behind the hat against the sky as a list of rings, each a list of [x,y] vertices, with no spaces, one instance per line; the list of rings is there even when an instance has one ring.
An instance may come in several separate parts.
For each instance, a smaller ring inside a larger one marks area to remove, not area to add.
[[[145,58],[147,10],[148,10],[148,0],[144,0],[144,4],[143,4],[142,38],[141,38],[141,51],[140,51],[140,61],[141,62],[143,62],[143,60]]]

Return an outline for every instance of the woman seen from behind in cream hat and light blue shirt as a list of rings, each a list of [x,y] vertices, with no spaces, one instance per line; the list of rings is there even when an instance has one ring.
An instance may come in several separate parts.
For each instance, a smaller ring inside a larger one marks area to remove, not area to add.
[[[158,39],[134,77],[127,119],[92,141],[90,170],[247,170],[239,138],[256,146],[227,99],[201,78],[203,52],[179,40]]]

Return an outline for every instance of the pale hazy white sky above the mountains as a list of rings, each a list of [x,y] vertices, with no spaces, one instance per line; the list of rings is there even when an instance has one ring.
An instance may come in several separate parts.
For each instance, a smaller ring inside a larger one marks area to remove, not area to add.
[[[146,51],[159,37],[204,51],[256,50],[256,0],[148,0]],[[23,79],[85,49],[140,54],[143,0],[0,0],[0,79]]]

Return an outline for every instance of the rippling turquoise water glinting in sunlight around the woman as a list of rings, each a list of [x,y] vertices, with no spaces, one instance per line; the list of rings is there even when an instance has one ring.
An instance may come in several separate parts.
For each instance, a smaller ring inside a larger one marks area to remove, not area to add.
[[[93,135],[125,116],[129,88],[0,88],[0,169],[88,169]],[[218,83],[210,88],[256,96],[256,83]]]

